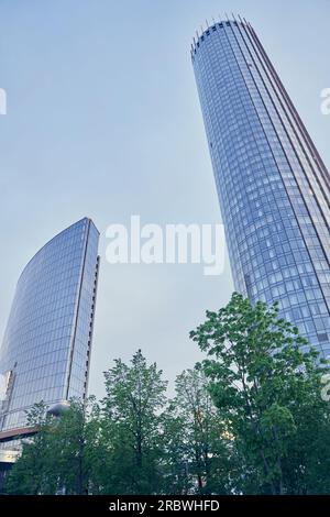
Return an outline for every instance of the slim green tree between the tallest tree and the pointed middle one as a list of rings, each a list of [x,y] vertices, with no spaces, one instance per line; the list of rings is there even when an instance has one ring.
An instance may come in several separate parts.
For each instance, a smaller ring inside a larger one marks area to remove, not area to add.
[[[199,494],[227,493],[230,440],[201,371],[187,370],[177,376],[176,396],[168,413],[179,429],[174,446],[182,452],[176,464],[185,490]],[[170,437],[166,441],[170,444]]]

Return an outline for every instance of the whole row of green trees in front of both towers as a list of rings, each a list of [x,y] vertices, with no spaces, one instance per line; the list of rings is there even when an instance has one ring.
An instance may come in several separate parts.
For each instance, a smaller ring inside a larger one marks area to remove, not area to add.
[[[139,350],[105,372],[102,400],[57,419],[35,405],[7,493],[330,493],[327,366],[276,304],[234,294],[190,337],[206,359],[172,398]]]

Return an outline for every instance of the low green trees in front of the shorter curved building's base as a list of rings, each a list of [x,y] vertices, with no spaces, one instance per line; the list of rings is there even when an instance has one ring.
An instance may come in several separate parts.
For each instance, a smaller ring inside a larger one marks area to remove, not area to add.
[[[28,425],[37,428],[33,438],[23,442],[22,454],[14,464],[7,492],[14,494],[88,494],[98,492],[94,461],[99,451],[97,405],[72,400],[61,418],[35,405]]]

